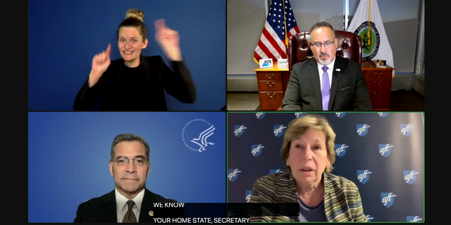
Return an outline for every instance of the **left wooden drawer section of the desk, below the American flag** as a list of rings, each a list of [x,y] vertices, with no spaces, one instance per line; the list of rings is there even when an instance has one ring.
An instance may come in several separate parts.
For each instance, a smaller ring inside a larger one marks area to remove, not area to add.
[[[257,72],[260,110],[277,110],[282,105],[283,96],[290,80],[290,70],[273,68],[254,70]]]

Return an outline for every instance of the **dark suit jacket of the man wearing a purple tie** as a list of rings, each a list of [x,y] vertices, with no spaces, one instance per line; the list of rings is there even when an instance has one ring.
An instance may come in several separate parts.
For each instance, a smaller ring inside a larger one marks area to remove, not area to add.
[[[322,105],[321,84],[315,58],[293,65],[282,110],[322,111]],[[359,63],[340,56],[335,57],[328,110],[373,110]]]

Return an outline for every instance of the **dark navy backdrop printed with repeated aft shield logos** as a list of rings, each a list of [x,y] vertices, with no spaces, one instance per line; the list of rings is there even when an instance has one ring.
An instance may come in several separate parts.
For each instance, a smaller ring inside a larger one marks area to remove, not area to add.
[[[423,113],[318,114],[337,134],[332,173],[357,184],[366,219],[424,221]],[[229,202],[246,202],[259,177],[286,170],[283,134],[303,115],[228,113]]]

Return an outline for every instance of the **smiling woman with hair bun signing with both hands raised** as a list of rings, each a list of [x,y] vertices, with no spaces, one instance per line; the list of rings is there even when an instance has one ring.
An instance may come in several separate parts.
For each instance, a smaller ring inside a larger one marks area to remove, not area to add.
[[[173,70],[161,56],[143,56],[149,43],[144,13],[128,10],[118,27],[121,58],[110,59],[111,44],[92,59],[92,69],[75,98],[74,110],[167,110],[164,90],[182,103],[194,103],[196,88],[183,62],[178,32],[155,21],[156,41],[171,60]]]

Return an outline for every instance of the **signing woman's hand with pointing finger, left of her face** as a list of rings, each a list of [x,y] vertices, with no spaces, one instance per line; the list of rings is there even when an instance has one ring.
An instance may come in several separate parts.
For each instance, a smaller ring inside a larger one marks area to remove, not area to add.
[[[106,69],[108,69],[109,65],[111,64],[110,53],[111,44],[108,45],[106,51],[102,51],[101,53],[95,55],[94,58],[92,58],[92,68],[91,73],[89,73],[88,80],[89,87],[97,84],[101,75],[103,75]]]

